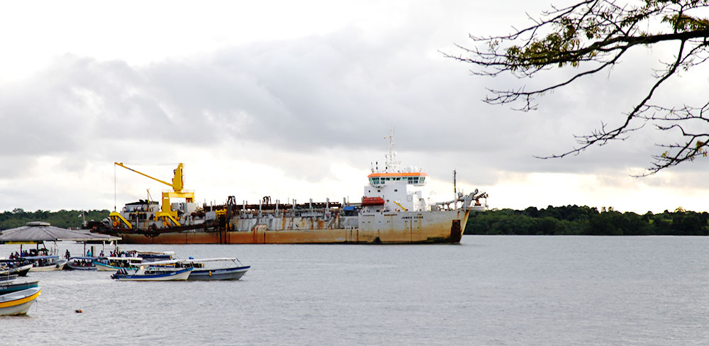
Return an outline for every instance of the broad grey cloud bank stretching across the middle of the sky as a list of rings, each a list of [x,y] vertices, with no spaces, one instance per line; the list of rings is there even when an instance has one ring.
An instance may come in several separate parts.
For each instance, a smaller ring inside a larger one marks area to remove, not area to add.
[[[499,172],[625,175],[647,166],[654,143],[671,140],[648,127],[624,143],[535,159],[571,149],[573,134],[601,121],[617,123],[637,100],[636,86],[652,80],[646,70],[574,84],[540,99],[535,112],[489,106],[480,101],[485,86],[517,81],[471,77],[442,57],[437,50],[461,33],[440,26],[445,13],[422,13],[376,39],[348,27],[149,65],[65,55],[0,86],[0,145],[9,148],[0,159],[12,162],[0,174],[15,177],[43,155],[81,172],[87,162],[183,160],[174,148],[233,145],[234,157],[317,181],[330,160],[366,162],[363,169],[383,160],[382,138],[396,128],[404,164],[442,180],[456,168],[471,182],[494,184]],[[305,154],[322,161],[303,162]],[[697,162],[677,172],[704,168]]]

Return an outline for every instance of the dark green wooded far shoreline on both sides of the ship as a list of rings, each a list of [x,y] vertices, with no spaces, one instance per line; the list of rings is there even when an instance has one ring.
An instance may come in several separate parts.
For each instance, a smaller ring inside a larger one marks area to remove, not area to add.
[[[107,210],[84,211],[86,221],[101,221]],[[30,221],[44,221],[61,228],[80,228],[82,211],[13,211],[0,213],[0,230],[16,228]],[[492,209],[471,213],[467,235],[709,235],[709,213],[677,208],[675,211],[637,213],[612,207],[548,206],[523,211]]]

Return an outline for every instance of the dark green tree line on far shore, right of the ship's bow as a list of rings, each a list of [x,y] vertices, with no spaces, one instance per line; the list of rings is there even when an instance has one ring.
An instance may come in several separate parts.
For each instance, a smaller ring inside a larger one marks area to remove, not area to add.
[[[653,214],[612,207],[548,206],[471,213],[464,234],[476,235],[709,235],[709,213],[677,208]]]

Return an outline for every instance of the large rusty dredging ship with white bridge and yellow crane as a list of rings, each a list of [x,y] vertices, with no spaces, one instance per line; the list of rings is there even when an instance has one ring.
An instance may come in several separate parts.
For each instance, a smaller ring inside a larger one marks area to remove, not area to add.
[[[449,201],[432,202],[428,174],[401,167],[391,133],[385,157],[383,168],[373,165],[357,203],[280,203],[269,196],[259,203],[237,203],[229,196],[221,205],[202,206],[194,202],[194,191],[184,189],[183,164],[171,184],[115,162],[172,189],[162,192],[161,203],[150,198],[128,203],[88,228],[132,244],[458,243],[470,213],[486,210],[488,195],[477,189],[462,194],[454,187]]]

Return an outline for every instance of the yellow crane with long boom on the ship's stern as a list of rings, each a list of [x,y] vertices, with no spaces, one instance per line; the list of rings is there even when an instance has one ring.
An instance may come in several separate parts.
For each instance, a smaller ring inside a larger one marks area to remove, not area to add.
[[[164,181],[157,179],[155,177],[150,177],[150,175],[147,175],[143,172],[138,172],[133,168],[125,166],[125,164],[123,164],[123,162],[113,162],[113,164],[115,164],[116,166],[120,166],[125,169],[128,169],[129,171],[138,173],[138,174],[142,175],[143,177],[148,177],[150,179],[155,180],[156,182],[160,182],[162,184],[172,187],[172,190],[163,190],[162,191],[162,201],[160,203],[160,211],[155,213],[155,217],[162,219],[162,225],[164,225],[164,226],[170,225],[171,223],[176,226],[180,225],[179,217],[177,216],[177,211],[172,210],[172,206],[170,204],[170,199],[182,198],[182,199],[185,199],[185,201],[187,203],[194,202],[194,191],[187,191],[184,189],[184,185],[182,182],[182,167],[184,167],[184,165],[182,163],[178,164],[177,168],[174,169],[174,171],[172,171],[174,173],[174,177],[172,177],[172,184],[170,184],[168,182],[164,182]],[[123,223],[128,225],[128,228],[133,228],[133,225],[131,225],[130,222],[125,220],[125,218],[123,218],[123,216],[121,216],[120,213],[116,213],[116,211],[114,211],[113,213],[110,214],[110,216],[111,216],[111,218],[113,218],[114,221],[118,222],[118,220],[120,219],[121,221],[123,221]],[[116,222],[114,222],[114,225],[116,225]]]

